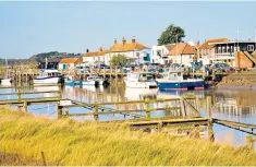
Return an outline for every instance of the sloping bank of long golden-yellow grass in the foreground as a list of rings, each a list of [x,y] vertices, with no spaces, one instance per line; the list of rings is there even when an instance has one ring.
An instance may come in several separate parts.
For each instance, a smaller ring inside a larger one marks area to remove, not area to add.
[[[111,123],[51,121],[0,110],[0,165],[42,165],[41,151],[47,165],[256,164],[255,153],[245,147],[232,148],[204,140],[132,132]],[[9,163],[4,164],[1,155],[5,155]]]

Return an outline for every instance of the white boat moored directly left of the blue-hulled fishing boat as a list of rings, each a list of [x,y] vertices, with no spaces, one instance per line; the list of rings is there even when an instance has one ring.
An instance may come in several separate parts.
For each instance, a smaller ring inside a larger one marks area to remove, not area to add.
[[[150,73],[127,73],[124,79],[126,87],[133,88],[155,88],[157,83]]]

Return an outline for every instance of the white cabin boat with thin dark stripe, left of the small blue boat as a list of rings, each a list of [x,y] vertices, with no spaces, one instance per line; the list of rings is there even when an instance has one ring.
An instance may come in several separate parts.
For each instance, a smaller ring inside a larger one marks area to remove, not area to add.
[[[60,76],[58,70],[40,70],[40,75],[34,79],[34,84],[58,84]]]

